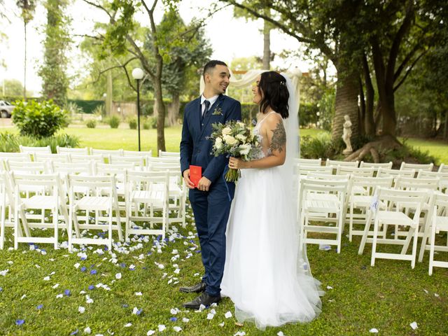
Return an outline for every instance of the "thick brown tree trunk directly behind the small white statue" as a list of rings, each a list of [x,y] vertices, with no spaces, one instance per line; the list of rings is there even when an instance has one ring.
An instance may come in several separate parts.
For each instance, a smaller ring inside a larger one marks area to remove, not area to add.
[[[346,72],[338,71],[346,74]],[[336,83],[335,117],[332,122],[332,140],[342,137],[344,116],[351,120],[351,139],[358,137],[358,76],[351,73],[348,76],[338,76]]]

